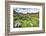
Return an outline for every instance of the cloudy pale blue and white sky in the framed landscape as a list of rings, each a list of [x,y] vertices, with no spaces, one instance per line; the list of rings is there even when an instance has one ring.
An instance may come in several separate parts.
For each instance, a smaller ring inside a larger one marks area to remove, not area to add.
[[[39,8],[14,8],[18,13],[37,13],[39,11]]]

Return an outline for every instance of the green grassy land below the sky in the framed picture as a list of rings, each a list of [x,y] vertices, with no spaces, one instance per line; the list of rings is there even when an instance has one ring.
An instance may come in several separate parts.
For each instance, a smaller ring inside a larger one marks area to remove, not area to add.
[[[39,26],[39,14],[17,14],[13,16],[14,28],[16,22],[20,22],[21,26],[19,28],[27,28],[27,27],[38,27]]]

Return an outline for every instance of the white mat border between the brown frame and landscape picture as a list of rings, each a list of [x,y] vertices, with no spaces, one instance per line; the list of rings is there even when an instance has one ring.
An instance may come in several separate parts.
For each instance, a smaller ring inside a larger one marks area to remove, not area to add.
[[[14,7],[22,7],[22,8],[39,8],[39,27],[32,28],[13,28],[13,8]],[[42,6],[24,6],[24,5],[10,5],[10,32],[16,31],[34,31],[34,30],[42,30]]]

